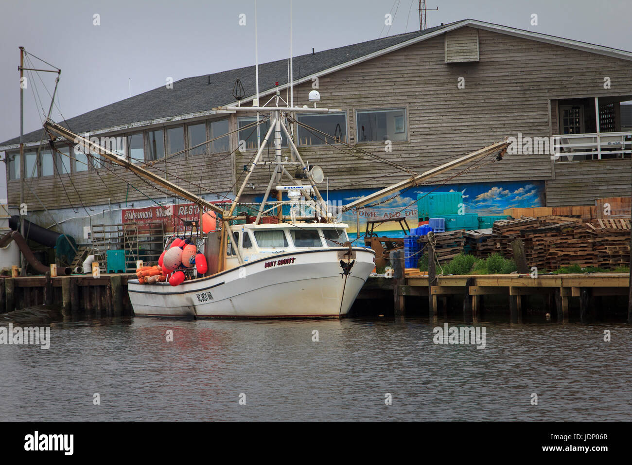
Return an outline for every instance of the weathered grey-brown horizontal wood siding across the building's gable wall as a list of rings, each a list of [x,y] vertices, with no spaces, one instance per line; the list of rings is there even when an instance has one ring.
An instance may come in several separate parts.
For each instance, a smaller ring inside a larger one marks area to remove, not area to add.
[[[504,137],[517,137],[519,132],[530,137],[550,135],[549,100],[632,94],[630,61],[468,29],[471,28],[464,28],[463,34],[478,34],[478,62],[445,63],[445,37],[440,35],[320,77],[319,106],[346,111],[349,140],[358,149],[422,172]],[[603,87],[605,76],[612,80],[611,89]],[[465,78],[465,89],[458,89],[459,77]],[[296,86],[295,104],[309,104],[310,90],[311,82]],[[393,142],[392,152],[384,151],[382,142],[356,143],[355,110],[379,108],[406,108],[408,140]],[[235,127],[234,118],[232,115],[231,128]],[[552,132],[557,132],[556,121],[551,123]],[[231,148],[236,147],[236,139],[231,138]],[[325,176],[329,177],[330,189],[383,187],[409,176],[379,161],[366,161],[371,158],[366,154],[345,150],[352,154],[332,150],[329,146],[300,147],[304,159],[322,166]],[[274,154],[272,149],[270,153]],[[283,154],[289,156],[289,151],[284,149]],[[204,189],[230,189],[235,177],[239,178],[243,172],[242,166],[253,158],[254,151],[236,152],[232,161],[231,156],[219,161],[222,156],[193,157],[172,164],[169,173],[173,177],[169,179],[181,183],[175,178],[178,176],[201,183]],[[613,162],[603,164],[608,166],[609,163]],[[590,162],[569,164],[568,168],[562,168],[564,170],[590,171]],[[604,171],[607,170],[604,168]],[[499,163],[482,164],[478,170],[463,173],[450,182],[552,180],[558,175],[548,154],[516,155],[506,156]],[[255,171],[251,178],[255,189],[248,189],[249,194],[264,192],[267,177],[267,169]],[[133,178],[128,175],[126,179]],[[92,173],[76,175],[75,185],[82,192],[83,202],[124,200],[126,183],[108,179],[106,189]],[[586,179],[595,186],[602,184],[600,180]],[[441,179],[434,181],[439,182]],[[145,183],[137,181],[135,185],[147,190]],[[188,183],[181,185],[194,189]],[[573,194],[563,190],[554,194],[558,184],[549,185],[547,191],[556,199],[556,204],[574,201]],[[33,181],[32,187],[48,208],[68,206],[59,178],[40,178]],[[69,195],[73,194],[69,183],[66,187]],[[621,195],[615,191],[616,188],[608,194]],[[155,191],[152,194],[157,195]],[[76,205],[78,199],[71,198]],[[142,194],[129,190],[128,199],[140,198]],[[9,203],[17,204],[18,199],[19,183],[9,181]],[[37,203],[32,195],[30,202]]]

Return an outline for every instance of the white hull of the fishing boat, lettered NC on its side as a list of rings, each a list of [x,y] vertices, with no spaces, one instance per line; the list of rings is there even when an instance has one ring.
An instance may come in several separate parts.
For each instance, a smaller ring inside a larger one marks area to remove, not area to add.
[[[139,316],[339,318],[375,267],[375,252],[353,247],[355,263],[344,275],[339,251],[348,249],[274,254],[176,287],[130,280],[130,301]]]

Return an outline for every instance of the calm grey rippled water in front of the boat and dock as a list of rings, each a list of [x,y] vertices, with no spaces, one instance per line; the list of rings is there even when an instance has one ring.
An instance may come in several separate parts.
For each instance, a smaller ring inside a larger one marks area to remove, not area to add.
[[[628,325],[477,324],[484,350],[427,318],[55,323],[0,345],[0,419],[632,420]]]

